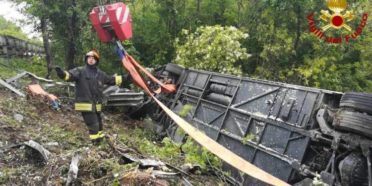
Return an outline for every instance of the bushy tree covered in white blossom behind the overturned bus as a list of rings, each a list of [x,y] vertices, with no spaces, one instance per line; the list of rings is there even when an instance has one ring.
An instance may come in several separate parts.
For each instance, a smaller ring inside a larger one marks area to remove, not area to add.
[[[239,40],[247,38],[248,34],[233,26],[219,25],[201,26],[191,34],[183,30],[183,34],[186,35],[185,42],[180,42],[179,38],[175,41],[175,63],[219,73],[242,74],[237,62],[248,59],[250,55],[246,48],[241,48]]]

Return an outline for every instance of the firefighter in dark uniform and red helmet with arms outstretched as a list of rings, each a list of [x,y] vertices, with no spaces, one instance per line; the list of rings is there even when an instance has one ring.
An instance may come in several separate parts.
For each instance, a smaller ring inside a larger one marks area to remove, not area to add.
[[[93,144],[99,144],[103,138],[101,118],[103,85],[119,85],[131,80],[130,73],[119,76],[106,75],[97,68],[100,56],[96,50],[85,55],[85,66],[63,71],[56,66],[57,75],[67,82],[75,81],[75,110],[81,112],[89,129]]]

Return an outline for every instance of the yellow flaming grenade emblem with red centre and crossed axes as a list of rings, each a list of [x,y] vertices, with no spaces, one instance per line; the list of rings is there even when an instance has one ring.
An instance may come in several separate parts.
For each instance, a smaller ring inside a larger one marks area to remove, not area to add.
[[[322,30],[325,31],[330,27],[333,27],[335,29],[339,28],[346,28],[347,30],[351,31],[352,28],[346,24],[346,22],[351,21],[354,19],[355,15],[353,15],[353,10],[346,11],[345,14],[341,14],[342,11],[344,11],[347,7],[346,0],[328,0],[328,9],[333,11],[333,14],[331,15],[328,10],[321,10],[320,12],[322,15],[319,17],[324,21],[329,21],[329,24],[323,26]],[[329,18],[329,20],[327,19]]]

